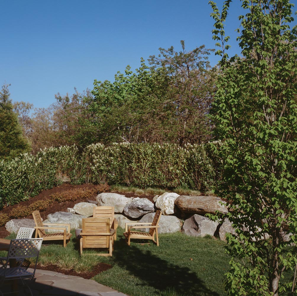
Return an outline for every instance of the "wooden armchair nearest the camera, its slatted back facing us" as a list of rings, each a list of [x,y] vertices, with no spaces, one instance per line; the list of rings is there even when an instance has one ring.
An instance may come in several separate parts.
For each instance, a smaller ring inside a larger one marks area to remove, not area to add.
[[[110,229],[109,218],[83,218],[80,232],[80,255],[83,248],[108,248],[109,253],[97,253],[98,256],[112,256],[115,230]]]

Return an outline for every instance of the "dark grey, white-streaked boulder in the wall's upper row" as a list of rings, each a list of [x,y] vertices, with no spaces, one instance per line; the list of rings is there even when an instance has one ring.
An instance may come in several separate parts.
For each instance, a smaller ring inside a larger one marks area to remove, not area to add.
[[[124,214],[131,218],[138,218],[152,212],[154,212],[154,204],[147,198],[135,197],[124,207]]]

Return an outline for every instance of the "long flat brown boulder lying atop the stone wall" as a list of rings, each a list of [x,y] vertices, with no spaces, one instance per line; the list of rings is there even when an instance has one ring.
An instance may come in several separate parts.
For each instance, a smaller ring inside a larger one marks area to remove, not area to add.
[[[216,196],[188,196],[180,195],[176,198],[174,204],[182,213],[192,213],[205,215],[207,213],[215,214],[217,211],[227,214],[226,203]]]

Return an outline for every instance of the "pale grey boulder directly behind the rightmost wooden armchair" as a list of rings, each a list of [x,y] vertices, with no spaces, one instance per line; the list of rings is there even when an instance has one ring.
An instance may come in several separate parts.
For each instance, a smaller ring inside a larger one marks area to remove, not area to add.
[[[154,219],[155,213],[149,213],[144,215],[139,223],[151,223]],[[158,233],[172,233],[181,230],[181,221],[175,216],[161,215],[159,221]],[[139,231],[149,232],[149,228],[139,228]]]

